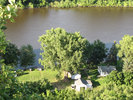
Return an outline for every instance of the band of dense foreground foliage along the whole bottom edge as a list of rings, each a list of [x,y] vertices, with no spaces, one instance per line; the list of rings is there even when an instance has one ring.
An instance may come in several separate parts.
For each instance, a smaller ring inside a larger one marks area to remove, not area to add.
[[[10,85],[13,86],[12,84]],[[127,85],[117,86],[112,82],[102,86],[98,90],[88,89],[79,93],[68,89],[55,89],[52,92],[46,90],[52,88],[48,88],[47,86],[49,86],[47,83],[40,81],[16,84],[13,87],[15,88],[14,91],[10,88],[8,89],[11,91],[10,95],[0,94],[0,99],[6,100],[10,97],[10,100],[127,100],[133,98],[132,87]],[[8,92],[4,91],[4,94]]]

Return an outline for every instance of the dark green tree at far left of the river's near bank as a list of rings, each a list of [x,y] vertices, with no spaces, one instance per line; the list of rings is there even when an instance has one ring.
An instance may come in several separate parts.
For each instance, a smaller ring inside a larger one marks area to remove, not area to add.
[[[2,59],[6,65],[17,66],[19,61],[19,49],[15,44],[9,43],[6,47],[6,53],[2,54]]]

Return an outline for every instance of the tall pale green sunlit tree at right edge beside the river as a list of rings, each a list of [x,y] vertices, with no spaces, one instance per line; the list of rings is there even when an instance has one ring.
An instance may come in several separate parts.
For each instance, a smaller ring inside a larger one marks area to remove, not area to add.
[[[124,35],[120,44],[116,44],[118,48],[118,56],[124,61],[123,71],[133,72],[133,36]]]

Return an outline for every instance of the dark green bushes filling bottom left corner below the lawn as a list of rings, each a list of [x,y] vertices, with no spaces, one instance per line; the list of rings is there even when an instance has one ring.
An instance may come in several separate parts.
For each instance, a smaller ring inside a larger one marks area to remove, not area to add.
[[[47,89],[53,89],[47,79],[20,83],[14,77],[16,73],[13,70],[10,66],[2,66],[0,73],[0,100],[12,100],[13,98],[17,100],[27,98],[28,100],[29,95],[46,94]]]

